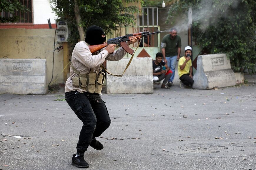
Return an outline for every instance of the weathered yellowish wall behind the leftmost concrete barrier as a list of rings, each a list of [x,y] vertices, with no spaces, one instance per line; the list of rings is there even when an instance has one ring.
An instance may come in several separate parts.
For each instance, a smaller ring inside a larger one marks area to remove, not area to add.
[[[46,59],[48,84],[52,76],[54,33],[55,29],[0,29],[0,58]],[[55,51],[54,83],[64,83],[62,70],[63,50]]]

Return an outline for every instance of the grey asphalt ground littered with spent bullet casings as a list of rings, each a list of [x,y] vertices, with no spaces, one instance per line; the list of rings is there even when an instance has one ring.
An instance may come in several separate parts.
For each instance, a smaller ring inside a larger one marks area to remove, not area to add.
[[[253,82],[253,81],[252,81]],[[112,119],[85,154],[89,169],[256,169],[256,84],[107,95]],[[71,165],[82,122],[63,89],[0,95],[0,169],[78,169]],[[21,138],[15,138],[20,136]],[[7,166],[5,166],[7,165]]]

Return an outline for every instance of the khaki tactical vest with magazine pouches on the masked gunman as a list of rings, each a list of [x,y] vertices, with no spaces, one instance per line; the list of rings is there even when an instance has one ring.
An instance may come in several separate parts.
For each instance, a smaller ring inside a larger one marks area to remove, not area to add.
[[[105,73],[101,71],[99,74],[94,73],[94,68],[91,68],[90,73],[81,74],[77,69],[75,69],[72,63],[71,67],[77,74],[76,76],[72,77],[73,86],[86,90],[89,93],[101,93],[102,85],[105,79]]]

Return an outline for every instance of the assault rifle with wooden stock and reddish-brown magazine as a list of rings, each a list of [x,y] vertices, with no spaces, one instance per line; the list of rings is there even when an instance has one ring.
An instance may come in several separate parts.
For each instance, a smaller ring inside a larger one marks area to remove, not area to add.
[[[108,41],[107,41],[106,43],[104,43],[104,44],[89,46],[89,49],[90,49],[91,53],[94,53],[94,52],[96,52],[96,51],[98,51],[98,50],[100,50],[100,49],[102,49],[102,48],[104,48],[104,47],[107,47],[107,45],[109,45],[109,44],[120,44],[120,45],[124,48],[124,50],[125,50],[127,53],[133,55],[134,50],[131,49],[131,48],[129,48],[129,46],[125,43],[126,41],[129,41],[129,37],[134,36],[134,37],[136,37],[136,38],[138,38],[138,37],[141,37],[141,38],[142,38],[142,37],[144,37],[144,36],[149,36],[149,35],[153,35],[153,34],[158,34],[158,33],[161,33],[161,32],[162,32],[162,31],[158,31],[158,28],[157,28],[157,31],[156,31],[156,32],[153,32],[153,33],[150,33],[150,32],[148,32],[148,31],[146,31],[146,32],[139,32],[139,33],[127,34],[127,35],[125,35],[125,36],[117,37],[117,38],[110,38],[110,39],[108,39]]]

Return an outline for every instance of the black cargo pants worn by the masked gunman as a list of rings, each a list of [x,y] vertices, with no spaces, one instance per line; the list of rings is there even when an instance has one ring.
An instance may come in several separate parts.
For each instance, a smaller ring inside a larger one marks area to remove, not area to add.
[[[111,120],[105,102],[97,93],[65,93],[65,98],[77,117],[83,122],[77,143],[77,154],[84,155],[92,139],[99,137],[110,125]]]

